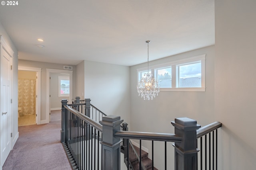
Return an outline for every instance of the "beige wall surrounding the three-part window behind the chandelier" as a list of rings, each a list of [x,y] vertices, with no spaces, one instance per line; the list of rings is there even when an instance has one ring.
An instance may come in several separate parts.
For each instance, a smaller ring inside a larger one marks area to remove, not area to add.
[[[177,117],[189,117],[197,120],[198,124],[204,126],[215,121],[214,118],[214,46],[189,51],[151,61],[150,65],[166,63],[178,59],[194,57],[206,54],[206,91],[205,92],[170,92],[160,91],[154,100],[143,100],[137,92],[137,69],[147,67],[147,63],[130,67],[130,89],[131,89],[131,123],[128,125],[131,131],[144,131],[156,133],[174,133],[171,121]],[[151,141],[142,143],[149,149],[151,157]],[[164,143],[154,144],[154,154],[157,159],[154,164],[158,169],[164,169]],[[157,149],[156,149],[157,148]],[[168,143],[168,165],[174,168],[174,147]],[[162,157],[162,158],[161,158]]]

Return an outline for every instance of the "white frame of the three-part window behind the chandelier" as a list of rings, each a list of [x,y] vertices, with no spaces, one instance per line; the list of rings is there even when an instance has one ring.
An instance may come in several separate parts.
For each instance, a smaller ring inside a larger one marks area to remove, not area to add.
[[[172,67],[172,87],[171,88],[161,88],[160,91],[182,91],[182,92],[205,92],[205,59],[206,54],[198,55],[195,57],[188,57],[186,59],[180,59],[176,61],[171,61],[168,63],[157,64],[150,66],[150,70],[154,73],[154,77],[156,78],[156,69]],[[177,69],[176,66],[183,65],[183,64],[192,64],[201,61],[201,87],[177,87]],[[137,69],[137,84],[138,84],[138,76],[139,72],[146,71],[147,68],[138,68]]]

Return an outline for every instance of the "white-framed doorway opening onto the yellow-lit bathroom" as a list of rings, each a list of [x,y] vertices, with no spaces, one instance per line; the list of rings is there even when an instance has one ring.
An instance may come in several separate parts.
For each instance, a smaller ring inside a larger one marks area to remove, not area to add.
[[[41,124],[41,68],[18,66],[18,126]]]

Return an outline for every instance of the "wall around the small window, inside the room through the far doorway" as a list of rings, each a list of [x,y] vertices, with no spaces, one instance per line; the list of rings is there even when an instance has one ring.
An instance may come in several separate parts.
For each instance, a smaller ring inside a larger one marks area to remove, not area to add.
[[[58,76],[69,76],[68,74],[57,74],[57,73],[50,73],[50,109],[51,110],[57,110],[61,109],[61,103],[60,101],[62,99],[67,99],[67,97],[59,97],[59,82],[58,82]],[[69,100],[69,99],[68,99]]]

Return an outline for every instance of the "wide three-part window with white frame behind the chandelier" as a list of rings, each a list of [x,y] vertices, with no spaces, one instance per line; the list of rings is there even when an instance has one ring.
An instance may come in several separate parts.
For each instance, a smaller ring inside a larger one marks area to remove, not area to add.
[[[205,56],[150,66],[160,91],[205,91]],[[137,71],[139,81],[147,71],[145,68]]]

